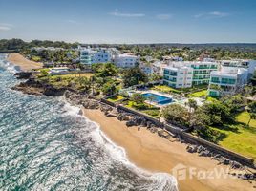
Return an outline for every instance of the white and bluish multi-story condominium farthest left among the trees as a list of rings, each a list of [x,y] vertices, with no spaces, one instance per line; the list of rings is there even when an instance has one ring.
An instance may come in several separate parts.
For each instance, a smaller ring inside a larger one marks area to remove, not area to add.
[[[112,54],[107,49],[81,49],[80,50],[80,62],[82,64],[95,64],[111,62]]]

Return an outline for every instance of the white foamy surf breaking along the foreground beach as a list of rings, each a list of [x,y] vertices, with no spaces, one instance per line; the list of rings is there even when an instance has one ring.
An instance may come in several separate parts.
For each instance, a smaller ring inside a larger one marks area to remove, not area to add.
[[[64,116],[74,116],[82,117],[86,122],[90,122],[95,126],[94,131],[91,132],[92,138],[96,140],[96,143],[101,147],[103,146],[105,151],[107,151],[112,159],[121,162],[123,165],[128,167],[132,172],[136,173],[140,177],[143,177],[146,180],[150,180],[152,183],[150,185],[145,185],[144,189],[146,190],[159,190],[159,191],[178,191],[178,182],[171,174],[168,173],[152,173],[145,169],[139,168],[136,164],[132,163],[123,147],[118,146],[113,142],[107,135],[100,129],[100,126],[95,121],[90,120],[88,117],[83,115],[82,108],[74,106],[69,103],[64,96],[59,97],[60,101],[63,101]]]

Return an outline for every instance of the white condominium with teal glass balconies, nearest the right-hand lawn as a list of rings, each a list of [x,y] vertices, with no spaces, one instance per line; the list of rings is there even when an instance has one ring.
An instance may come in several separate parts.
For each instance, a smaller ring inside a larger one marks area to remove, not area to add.
[[[237,67],[221,67],[212,72],[208,87],[209,96],[232,95],[242,90],[248,81],[248,69]]]

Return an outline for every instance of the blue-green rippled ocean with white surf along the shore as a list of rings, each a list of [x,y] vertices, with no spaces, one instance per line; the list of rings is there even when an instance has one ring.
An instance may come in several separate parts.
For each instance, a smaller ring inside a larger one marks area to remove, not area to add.
[[[149,173],[62,97],[11,90],[16,68],[0,54],[0,190],[177,190]]]

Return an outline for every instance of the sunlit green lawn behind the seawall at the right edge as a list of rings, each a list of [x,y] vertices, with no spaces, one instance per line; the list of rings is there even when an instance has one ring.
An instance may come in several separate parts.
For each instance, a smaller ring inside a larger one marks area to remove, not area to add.
[[[241,113],[236,119],[238,124],[229,126],[233,130],[218,129],[226,135],[219,144],[231,151],[256,159],[256,120],[252,119],[250,126],[247,126],[249,119],[247,112]]]

